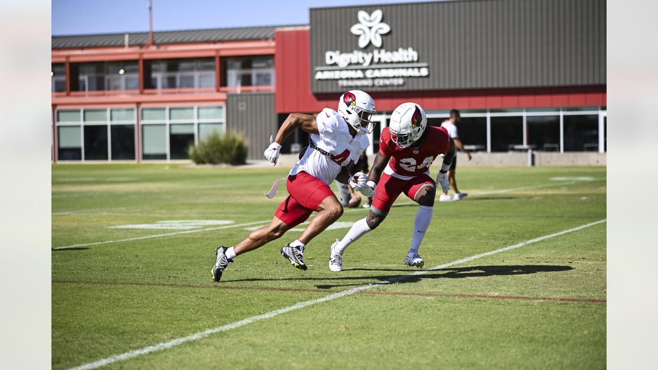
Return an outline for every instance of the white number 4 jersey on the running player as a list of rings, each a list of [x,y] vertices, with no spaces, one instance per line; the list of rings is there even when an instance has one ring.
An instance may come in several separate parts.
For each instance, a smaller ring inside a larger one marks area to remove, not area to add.
[[[320,134],[311,134],[311,141],[316,147],[334,156],[328,157],[308,147],[304,156],[292,167],[290,174],[304,171],[328,185],[336,179],[341,167],[359,161],[359,155],[370,142],[365,135],[357,134],[352,137],[347,122],[334,109],[322,109],[316,121]]]

